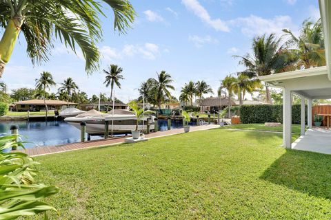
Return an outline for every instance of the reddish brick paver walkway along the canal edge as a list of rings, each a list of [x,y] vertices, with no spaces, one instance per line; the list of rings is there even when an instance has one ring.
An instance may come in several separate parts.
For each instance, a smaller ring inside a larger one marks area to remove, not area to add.
[[[219,128],[219,125],[217,124],[209,124],[209,125],[203,125],[203,126],[191,126],[191,131],[204,131],[209,129],[215,129]],[[184,133],[184,129],[172,129],[169,131],[158,131],[154,133],[150,133],[148,135],[145,135],[146,138],[151,139],[154,137],[164,137],[169,135],[177,135],[179,133]],[[34,148],[27,148],[26,150],[19,150],[21,152],[27,153],[30,156],[39,156],[39,155],[48,155],[52,153],[62,153],[66,151],[75,151],[83,148],[92,148],[92,147],[98,147],[98,146],[110,146],[114,144],[121,144],[124,143],[125,137],[115,137],[112,139],[102,139],[102,140],[92,140],[88,142],[78,142],[78,143],[72,143],[72,144],[63,144],[58,146],[39,146]]]

